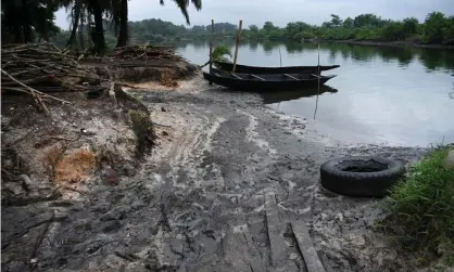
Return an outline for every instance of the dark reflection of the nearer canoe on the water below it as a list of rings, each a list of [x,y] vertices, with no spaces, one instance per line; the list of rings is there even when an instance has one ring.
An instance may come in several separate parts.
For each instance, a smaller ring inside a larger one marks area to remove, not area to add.
[[[337,89],[331,88],[329,86],[320,86],[320,89],[317,88],[307,88],[303,90],[294,90],[294,91],[274,91],[274,92],[262,92],[260,95],[263,99],[263,103],[265,104],[275,104],[285,101],[292,101],[298,100],[301,98],[311,98],[317,94],[324,93],[336,93],[338,92]]]

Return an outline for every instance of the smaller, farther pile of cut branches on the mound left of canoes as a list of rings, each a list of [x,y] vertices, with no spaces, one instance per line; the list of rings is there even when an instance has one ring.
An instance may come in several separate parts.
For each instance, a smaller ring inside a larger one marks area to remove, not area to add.
[[[181,61],[182,57],[175,54],[172,47],[154,47],[154,46],[129,46],[116,48],[113,52],[114,57],[128,61],[149,61],[149,60],[172,60]]]

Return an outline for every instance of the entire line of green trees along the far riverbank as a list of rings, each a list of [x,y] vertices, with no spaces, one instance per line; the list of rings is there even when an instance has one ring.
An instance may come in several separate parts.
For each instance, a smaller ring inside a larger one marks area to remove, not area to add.
[[[269,40],[357,40],[357,41],[409,41],[415,43],[454,44],[454,16],[446,16],[441,12],[429,13],[425,22],[415,17],[402,21],[383,20],[375,14],[361,14],[354,18],[341,20],[332,14],[329,22],[321,26],[310,25],[303,22],[288,23],[286,27],[275,26],[266,22],[263,27],[251,25],[242,30],[241,38],[269,39]],[[116,36],[114,27],[104,22],[105,40],[114,47]],[[216,36],[224,38],[235,37],[237,25],[230,23],[214,24]],[[211,25],[177,26],[161,20],[143,20],[129,22],[131,43],[165,43],[179,40],[209,38]],[[56,43],[64,44],[68,39],[68,31],[61,31],[56,36]]]

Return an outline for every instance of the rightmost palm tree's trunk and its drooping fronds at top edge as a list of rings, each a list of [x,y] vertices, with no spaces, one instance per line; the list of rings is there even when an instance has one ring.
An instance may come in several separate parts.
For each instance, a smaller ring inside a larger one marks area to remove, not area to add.
[[[125,47],[128,41],[128,0],[113,0],[115,1],[114,7],[119,7],[119,15],[114,16],[114,24],[119,25],[119,34],[116,47]],[[118,4],[118,1],[121,4]],[[186,18],[186,23],[189,25],[189,13],[188,7],[191,2],[198,11],[202,9],[202,0],[173,0],[181,11],[182,15]],[[160,0],[160,3],[164,5],[164,0]],[[117,21],[116,21],[117,20]]]

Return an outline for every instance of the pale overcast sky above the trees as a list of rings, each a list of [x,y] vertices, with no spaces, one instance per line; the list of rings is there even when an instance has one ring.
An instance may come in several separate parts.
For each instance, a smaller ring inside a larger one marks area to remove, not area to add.
[[[161,18],[176,25],[186,25],[185,17],[176,4],[166,0],[160,5],[159,0],[129,0],[129,21]],[[432,11],[454,15],[454,0],[202,0],[202,10],[189,8],[191,25],[209,25],[229,22],[243,25],[262,26],[270,21],[275,25],[286,26],[289,22],[303,21],[319,25],[329,21],[330,14],[341,18],[354,17],[362,13],[375,13],[383,18],[401,20],[415,16],[424,21]],[[56,13],[56,25],[68,28],[64,10]]]

